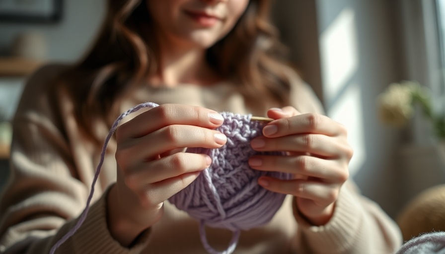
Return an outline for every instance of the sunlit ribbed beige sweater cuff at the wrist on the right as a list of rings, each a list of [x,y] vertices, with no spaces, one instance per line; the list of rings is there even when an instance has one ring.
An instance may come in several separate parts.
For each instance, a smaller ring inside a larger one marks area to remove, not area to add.
[[[359,243],[363,241],[360,227],[363,226],[364,211],[354,194],[345,186],[340,190],[332,218],[325,225],[314,226],[308,222],[298,211],[295,197],[293,207],[299,232],[313,253],[326,250],[332,254],[344,253],[353,249],[353,246],[365,246]]]

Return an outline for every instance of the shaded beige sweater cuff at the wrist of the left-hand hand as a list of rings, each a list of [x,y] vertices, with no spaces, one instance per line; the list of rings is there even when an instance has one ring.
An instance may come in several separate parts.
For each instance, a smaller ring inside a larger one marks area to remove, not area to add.
[[[144,231],[130,247],[123,247],[110,234],[107,225],[108,188],[97,202],[90,206],[87,217],[75,234],[62,244],[57,253],[113,253],[137,254],[148,244],[149,230]],[[74,228],[77,220],[65,225],[66,232]],[[75,250],[75,251],[74,251]]]

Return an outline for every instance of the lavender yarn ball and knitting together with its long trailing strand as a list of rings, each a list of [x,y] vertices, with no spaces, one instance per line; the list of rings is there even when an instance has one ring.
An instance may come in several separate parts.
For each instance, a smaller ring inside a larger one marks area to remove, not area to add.
[[[94,185],[99,176],[107,144],[127,115],[142,108],[153,108],[158,105],[152,102],[142,103],[120,115],[108,133],[102,147],[91,191],[75,226],[52,248],[65,243],[80,228],[89,210]],[[168,199],[178,209],[186,211],[200,222],[200,237],[204,248],[211,254],[231,254],[236,248],[240,231],[262,226],[268,223],[282,205],[286,195],[267,191],[257,184],[260,176],[272,176],[290,179],[290,174],[280,172],[263,172],[251,169],[247,160],[254,154],[283,154],[282,152],[256,152],[250,147],[250,140],[261,135],[264,123],[250,121],[251,115],[221,113],[224,123],[218,128],[227,136],[227,143],[220,149],[188,148],[187,152],[205,153],[212,158],[212,164],[187,188]],[[233,232],[228,248],[223,252],[214,250],[206,238],[205,226],[228,229]]]

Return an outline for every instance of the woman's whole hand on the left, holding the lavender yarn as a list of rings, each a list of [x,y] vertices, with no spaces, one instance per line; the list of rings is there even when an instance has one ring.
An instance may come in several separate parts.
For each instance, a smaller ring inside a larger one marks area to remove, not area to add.
[[[212,160],[186,147],[219,148],[223,117],[202,107],[164,104],[116,131],[117,182],[108,194],[108,227],[129,246],[163,213],[163,202],[194,181]]]

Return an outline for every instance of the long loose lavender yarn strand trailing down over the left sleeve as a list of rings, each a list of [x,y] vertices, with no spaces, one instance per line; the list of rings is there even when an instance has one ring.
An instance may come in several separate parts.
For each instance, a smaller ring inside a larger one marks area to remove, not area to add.
[[[86,201],[86,206],[83,209],[83,212],[80,214],[79,220],[77,221],[77,223],[75,224],[74,228],[72,228],[70,231],[68,231],[68,233],[62,237],[54,246],[53,248],[51,248],[50,254],[54,254],[57,250],[57,248],[59,248],[63,243],[65,243],[70,237],[72,237],[74,235],[74,233],[80,228],[80,226],[82,226],[83,222],[86,219],[86,215],[88,214],[88,210],[89,210],[89,205],[91,203],[91,199],[93,197],[94,194],[94,186],[96,185],[96,181],[97,178],[99,177],[99,173],[100,173],[100,169],[102,168],[102,164],[105,158],[105,152],[107,150],[107,145],[108,142],[111,139],[111,136],[113,135],[113,133],[116,131],[117,127],[119,126],[119,123],[121,122],[122,119],[124,119],[126,116],[128,116],[129,114],[136,112],[142,108],[154,108],[157,107],[159,105],[157,105],[156,103],[152,103],[152,102],[146,102],[146,103],[142,103],[137,105],[134,108],[131,108],[129,110],[127,110],[126,112],[122,113],[122,115],[120,115],[116,121],[114,122],[113,126],[111,127],[110,131],[108,132],[108,135],[105,139],[105,142],[103,144],[102,147],[102,152],[100,154],[100,161],[99,164],[97,165],[96,168],[96,172],[94,174],[94,179],[93,182],[91,183],[91,191],[89,192],[89,196],[88,199]]]

